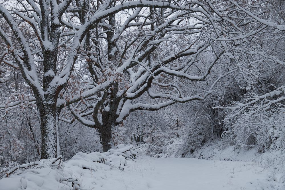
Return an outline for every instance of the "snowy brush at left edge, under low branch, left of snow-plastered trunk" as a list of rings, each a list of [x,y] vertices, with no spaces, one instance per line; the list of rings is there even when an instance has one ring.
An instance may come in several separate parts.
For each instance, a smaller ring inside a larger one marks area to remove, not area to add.
[[[0,113],[1,167],[8,166],[10,162],[32,162],[39,157],[37,136],[40,136],[40,130],[35,113],[28,106],[28,103],[23,103],[21,108],[4,113],[4,116]]]

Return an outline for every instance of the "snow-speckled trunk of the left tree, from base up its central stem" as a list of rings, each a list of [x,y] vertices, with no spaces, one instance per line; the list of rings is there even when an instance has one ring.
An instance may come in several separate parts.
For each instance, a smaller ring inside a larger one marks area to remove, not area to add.
[[[58,41],[60,31],[54,25],[51,27],[50,42],[52,46],[44,48],[42,51],[44,57],[44,75],[42,80],[42,89],[44,91],[44,101],[38,99],[37,105],[40,110],[41,132],[42,132],[42,154],[41,158],[57,157],[57,117],[56,102],[60,90],[64,87],[53,84],[56,74],[56,65],[58,57]]]

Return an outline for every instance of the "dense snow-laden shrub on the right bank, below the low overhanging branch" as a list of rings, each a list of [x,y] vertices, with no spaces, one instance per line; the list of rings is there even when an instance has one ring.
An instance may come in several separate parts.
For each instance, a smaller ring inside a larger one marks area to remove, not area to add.
[[[255,109],[253,107],[252,109]],[[285,146],[285,108],[252,113],[251,109],[227,124],[222,135],[224,141],[236,148],[256,147],[259,152],[283,150]]]

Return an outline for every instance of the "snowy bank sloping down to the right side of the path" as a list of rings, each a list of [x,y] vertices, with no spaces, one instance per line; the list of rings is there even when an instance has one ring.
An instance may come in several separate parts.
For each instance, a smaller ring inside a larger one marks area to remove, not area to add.
[[[222,141],[217,141],[206,144],[194,152],[194,154],[186,156],[203,160],[253,162],[270,173],[270,180],[285,184],[284,150],[268,150],[260,153],[257,148],[247,149],[225,146]],[[285,186],[283,189],[285,189]]]

